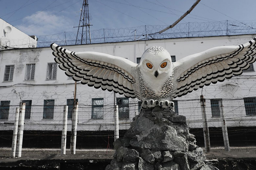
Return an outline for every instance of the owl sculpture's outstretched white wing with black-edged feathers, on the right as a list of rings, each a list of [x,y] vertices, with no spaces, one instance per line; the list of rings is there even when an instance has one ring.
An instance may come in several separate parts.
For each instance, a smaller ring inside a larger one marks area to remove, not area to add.
[[[256,38],[239,46],[211,48],[174,62],[172,98],[241,75],[256,60],[255,56]]]

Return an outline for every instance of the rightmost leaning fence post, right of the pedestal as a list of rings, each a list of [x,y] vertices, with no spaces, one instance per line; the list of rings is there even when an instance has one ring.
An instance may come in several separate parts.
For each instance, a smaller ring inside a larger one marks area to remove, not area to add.
[[[218,105],[221,106],[220,113],[221,113],[221,125],[222,125],[222,135],[223,135],[224,147],[225,147],[226,151],[230,151],[230,142],[228,139],[227,124],[225,123],[225,116],[224,116],[222,100],[218,101]]]

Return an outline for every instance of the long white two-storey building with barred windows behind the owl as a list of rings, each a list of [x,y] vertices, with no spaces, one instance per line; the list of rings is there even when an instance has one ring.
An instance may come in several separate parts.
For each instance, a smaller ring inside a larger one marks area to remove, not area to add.
[[[177,61],[212,47],[245,44],[255,36],[158,39],[74,45],[64,48],[75,52],[103,52],[124,57],[136,63],[150,46],[162,46],[168,50],[172,59]],[[187,117],[191,128],[202,128],[199,99],[203,94],[206,99],[209,99],[206,100],[209,127],[221,127],[222,120],[216,99],[223,100],[227,126],[255,126],[256,109],[252,106],[256,105],[256,87],[254,87],[256,74],[253,65],[250,69],[241,76],[203,87],[182,98],[176,98],[178,105],[176,109],[180,115]],[[0,80],[0,131],[13,129],[15,108],[21,100],[26,102],[27,107],[24,130],[61,131],[63,105],[73,103],[74,81],[57,68],[51,48],[1,50]],[[119,100],[121,98],[123,100]],[[113,92],[102,91],[80,83],[77,83],[77,100],[79,102],[78,131],[114,130],[114,105],[116,104],[123,104],[123,107],[119,107],[120,129],[128,129],[132,118],[138,114],[137,99],[124,98]],[[68,130],[71,128],[70,119],[68,128]]]

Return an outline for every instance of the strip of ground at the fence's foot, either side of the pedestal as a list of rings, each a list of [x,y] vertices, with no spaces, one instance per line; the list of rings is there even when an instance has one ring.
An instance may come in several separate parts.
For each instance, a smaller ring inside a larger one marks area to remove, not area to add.
[[[10,157],[10,148],[0,148],[0,169],[63,170],[71,168],[77,170],[104,170],[104,167],[113,159],[112,155],[114,152],[115,150],[113,149],[77,149],[75,155],[71,155],[69,150],[67,150],[66,155],[61,155],[60,149],[24,148],[22,150],[22,157],[12,158]],[[229,152],[225,151],[223,147],[215,147],[211,148],[211,151],[206,153],[206,155],[208,162],[214,163],[218,168],[222,167],[223,170],[236,170],[236,166],[245,167],[238,168],[237,170],[256,169],[256,146],[231,147]]]

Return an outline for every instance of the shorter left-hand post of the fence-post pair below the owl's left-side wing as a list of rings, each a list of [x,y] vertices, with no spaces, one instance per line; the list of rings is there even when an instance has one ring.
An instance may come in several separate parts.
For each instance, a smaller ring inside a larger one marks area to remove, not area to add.
[[[67,124],[68,124],[68,106],[64,106],[64,110],[63,110],[62,139],[61,139],[61,154],[62,155],[66,154]]]

